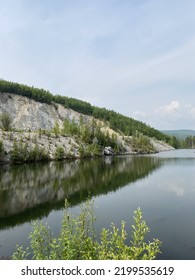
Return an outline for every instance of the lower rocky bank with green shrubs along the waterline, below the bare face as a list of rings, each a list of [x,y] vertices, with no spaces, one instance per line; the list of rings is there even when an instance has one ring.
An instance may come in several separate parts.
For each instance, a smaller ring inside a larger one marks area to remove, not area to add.
[[[0,162],[11,163],[101,156],[104,147],[111,147],[116,155],[159,151],[159,143],[141,133],[123,136],[95,119],[85,124],[82,118],[79,123],[65,119],[62,127],[56,123],[52,130],[0,130],[0,139]],[[162,144],[162,150],[171,148]]]

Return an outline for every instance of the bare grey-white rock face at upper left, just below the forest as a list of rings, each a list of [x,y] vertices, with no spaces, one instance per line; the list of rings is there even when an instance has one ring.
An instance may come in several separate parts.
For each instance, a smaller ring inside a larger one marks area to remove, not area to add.
[[[10,114],[13,128],[31,131],[51,130],[55,123],[62,127],[66,118],[79,122],[81,115],[60,104],[48,105],[24,96],[0,92],[0,114],[3,112]],[[88,122],[90,117],[84,116],[83,120]]]

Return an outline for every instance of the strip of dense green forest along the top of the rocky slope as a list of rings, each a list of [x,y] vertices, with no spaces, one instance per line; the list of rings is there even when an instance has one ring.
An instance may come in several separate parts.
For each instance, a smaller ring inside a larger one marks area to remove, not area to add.
[[[26,96],[35,101],[47,104],[52,104],[53,102],[62,104],[65,108],[70,108],[84,115],[93,116],[96,119],[108,122],[110,128],[122,132],[127,136],[133,136],[136,134],[136,131],[139,131],[148,137],[155,137],[156,139],[163,140],[167,143],[171,141],[171,136],[154,129],[143,122],[123,116],[113,110],[92,106],[85,101],[66,96],[52,95],[49,91],[44,89],[0,80],[0,92]]]

